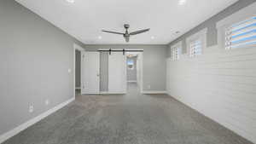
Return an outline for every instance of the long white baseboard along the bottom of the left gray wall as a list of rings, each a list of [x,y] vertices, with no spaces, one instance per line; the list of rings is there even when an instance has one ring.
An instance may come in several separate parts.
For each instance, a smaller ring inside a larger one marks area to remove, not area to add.
[[[38,115],[37,117],[28,120],[26,123],[20,124],[20,126],[16,127],[15,129],[9,130],[8,132],[4,133],[3,135],[0,135],[0,143],[3,143],[3,141],[7,141],[9,138],[13,137],[14,135],[19,134],[22,130],[26,130],[26,128],[32,126],[33,124],[38,123],[43,118],[49,116],[51,113],[58,111],[62,107],[67,106],[67,104],[69,104],[70,102],[72,102],[74,100],[75,100],[75,98],[73,97],[72,99],[70,99],[68,101],[62,102],[58,106],[53,107],[53,108],[49,109],[48,111]]]

